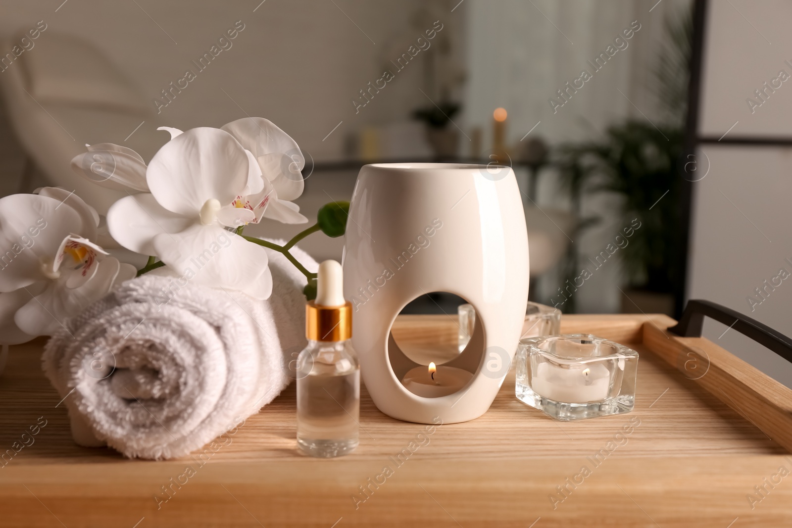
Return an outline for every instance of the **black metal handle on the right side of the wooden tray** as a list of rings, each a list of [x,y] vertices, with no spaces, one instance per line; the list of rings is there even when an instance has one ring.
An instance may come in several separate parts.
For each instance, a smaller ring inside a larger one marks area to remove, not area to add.
[[[767,325],[763,325],[756,319],[714,302],[691,299],[685,306],[680,323],[672,326],[668,331],[683,337],[701,337],[705,315],[706,317],[712,317],[715,321],[722,322],[724,325],[729,325],[729,328],[733,328],[744,336],[750,337],[756,343],[769,348],[783,359],[786,359],[786,361],[792,363],[792,339]]]

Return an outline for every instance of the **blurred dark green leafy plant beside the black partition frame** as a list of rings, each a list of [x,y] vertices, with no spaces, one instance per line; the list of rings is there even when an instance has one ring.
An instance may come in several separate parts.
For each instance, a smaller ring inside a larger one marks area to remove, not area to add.
[[[676,268],[678,253],[684,251],[677,163],[683,154],[692,31],[691,12],[665,20],[667,38],[651,84],[662,114],[660,126],[625,120],[607,127],[602,140],[560,147],[554,161],[578,218],[584,193],[604,191],[621,197],[620,222],[641,222],[630,244],[619,251],[630,287],[661,293],[673,292],[681,279]],[[581,218],[577,234],[598,220]],[[574,245],[568,261],[566,276],[574,277],[580,271]],[[573,306],[565,308],[573,311]]]

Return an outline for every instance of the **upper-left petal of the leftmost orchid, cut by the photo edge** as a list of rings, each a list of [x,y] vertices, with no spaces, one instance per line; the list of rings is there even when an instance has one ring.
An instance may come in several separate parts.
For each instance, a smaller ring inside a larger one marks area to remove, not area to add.
[[[71,233],[86,228],[71,207],[33,194],[0,198],[0,291],[14,291],[41,279],[41,264],[51,260]],[[93,227],[96,230],[96,227]]]

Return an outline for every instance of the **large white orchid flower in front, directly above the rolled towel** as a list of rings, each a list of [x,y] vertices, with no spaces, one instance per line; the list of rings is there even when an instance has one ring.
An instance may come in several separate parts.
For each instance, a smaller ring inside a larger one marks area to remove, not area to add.
[[[225,229],[255,219],[253,211],[234,207],[234,199],[249,192],[256,179],[263,181],[260,170],[253,170],[232,135],[193,128],[173,137],[150,161],[150,193],[110,207],[110,234],[196,283],[268,298],[272,275],[265,249]]]

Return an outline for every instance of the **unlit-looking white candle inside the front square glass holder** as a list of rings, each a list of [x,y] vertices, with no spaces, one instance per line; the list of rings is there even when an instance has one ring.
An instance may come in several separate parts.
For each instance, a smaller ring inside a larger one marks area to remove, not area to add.
[[[577,363],[562,368],[539,363],[531,377],[531,389],[548,400],[586,404],[607,398],[611,372],[602,363]]]

